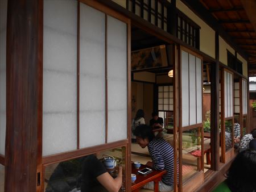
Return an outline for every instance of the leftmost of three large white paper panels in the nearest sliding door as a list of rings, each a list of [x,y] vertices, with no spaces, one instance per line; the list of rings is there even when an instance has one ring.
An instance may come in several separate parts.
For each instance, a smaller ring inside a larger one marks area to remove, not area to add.
[[[77,2],[44,1],[43,156],[76,149]]]

